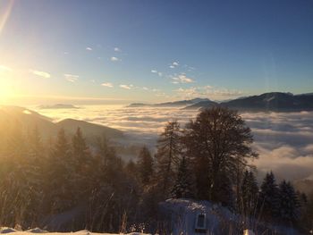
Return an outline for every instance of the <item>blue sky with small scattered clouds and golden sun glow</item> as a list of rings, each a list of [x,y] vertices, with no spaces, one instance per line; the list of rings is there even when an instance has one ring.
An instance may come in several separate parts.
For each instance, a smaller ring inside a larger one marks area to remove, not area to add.
[[[313,1],[1,0],[0,103],[313,92]]]

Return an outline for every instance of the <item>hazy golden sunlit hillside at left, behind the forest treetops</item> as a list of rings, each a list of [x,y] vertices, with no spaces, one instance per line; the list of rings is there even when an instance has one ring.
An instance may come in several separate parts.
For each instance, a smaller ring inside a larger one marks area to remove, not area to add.
[[[52,122],[46,116],[40,115],[30,109],[18,106],[0,106],[0,132],[5,133],[18,126],[21,126],[21,129],[25,132],[38,128],[44,139],[55,137],[60,128],[63,128],[67,135],[72,135],[78,127],[80,127],[84,136],[89,140],[103,134],[107,138],[123,138],[123,131],[103,125],[73,119]]]

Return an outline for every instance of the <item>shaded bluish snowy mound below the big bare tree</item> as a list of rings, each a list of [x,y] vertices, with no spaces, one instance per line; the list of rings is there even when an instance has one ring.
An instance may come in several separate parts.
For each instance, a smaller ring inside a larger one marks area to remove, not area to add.
[[[234,214],[224,206],[214,204],[209,201],[197,201],[191,199],[167,199],[159,204],[160,214],[166,223],[167,230],[173,235],[188,234],[200,235],[202,232],[196,231],[196,220],[198,214],[206,214],[205,234],[243,234],[245,230],[252,230],[255,234],[265,234],[263,232],[273,232],[273,234],[298,235],[298,231],[290,227],[275,226],[275,224],[265,224],[244,218]],[[272,233],[266,233],[272,234]]]

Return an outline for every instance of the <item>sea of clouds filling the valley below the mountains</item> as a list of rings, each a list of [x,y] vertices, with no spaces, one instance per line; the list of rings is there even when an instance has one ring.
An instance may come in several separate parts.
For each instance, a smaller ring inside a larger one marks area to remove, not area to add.
[[[56,121],[74,118],[125,131],[134,144],[154,147],[165,123],[177,120],[183,127],[197,111],[165,107],[86,105],[80,109],[37,110]],[[273,171],[278,180],[313,180],[313,112],[241,113],[250,126],[259,157],[253,161],[258,178]]]

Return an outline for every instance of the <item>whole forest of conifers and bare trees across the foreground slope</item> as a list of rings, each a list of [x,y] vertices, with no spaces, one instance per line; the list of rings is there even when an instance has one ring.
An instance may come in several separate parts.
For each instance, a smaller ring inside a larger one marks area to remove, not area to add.
[[[156,153],[143,146],[129,162],[105,136],[87,144],[80,128],[72,137],[60,129],[44,141],[37,127],[21,125],[1,133],[2,226],[162,233],[158,203],[191,198],[264,223],[312,227],[312,196],[275,172],[258,182],[252,132],[233,110],[202,110],[184,127],[167,122]]]

